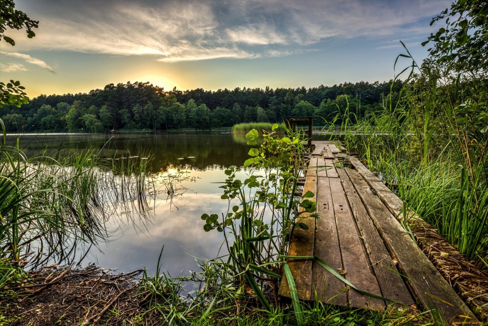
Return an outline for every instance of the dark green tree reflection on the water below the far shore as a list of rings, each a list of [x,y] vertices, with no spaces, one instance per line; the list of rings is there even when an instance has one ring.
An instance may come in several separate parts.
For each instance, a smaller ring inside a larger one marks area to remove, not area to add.
[[[79,152],[87,148],[100,150],[100,156],[114,158],[124,155],[140,155],[150,152],[153,160],[149,166],[150,172],[158,173],[170,164],[190,164],[195,169],[205,169],[207,166],[231,165],[241,166],[248,158],[247,145],[244,135],[227,134],[134,134],[113,135],[76,135],[76,136],[43,136],[32,140],[24,137],[21,140],[27,150],[39,152],[46,149],[46,154],[63,152]],[[27,143],[28,145],[25,145]],[[179,160],[182,159],[183,160]]]

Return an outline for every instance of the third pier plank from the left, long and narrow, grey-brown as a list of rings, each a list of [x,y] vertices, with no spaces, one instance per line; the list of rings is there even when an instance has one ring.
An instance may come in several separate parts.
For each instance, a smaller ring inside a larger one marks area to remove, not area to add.
[[[370,264],[349,209],[341,179],[329,178],[329,183],[345,277],[359,289],[381,295],[378,281],[368,267]],[[352,289],[348,291],[348,297],[353,307],[385,309],[383,300],[364,296]]]

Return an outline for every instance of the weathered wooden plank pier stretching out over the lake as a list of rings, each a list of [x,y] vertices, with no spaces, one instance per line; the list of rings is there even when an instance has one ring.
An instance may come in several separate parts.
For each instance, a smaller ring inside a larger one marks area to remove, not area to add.
[[[397,220],[401,200],[335,143],[313,143],[303,193],[315,194],[319,218],[299,217],[308,229],[295,228],[288,255],[316,256],[359,289],[399,307],[436,309],[447,323],[476,321]],[[288,264],[302,300],[376,310],[391,304],[346,286],[313,260]],[[280,294],[290,297],[285,277]]]

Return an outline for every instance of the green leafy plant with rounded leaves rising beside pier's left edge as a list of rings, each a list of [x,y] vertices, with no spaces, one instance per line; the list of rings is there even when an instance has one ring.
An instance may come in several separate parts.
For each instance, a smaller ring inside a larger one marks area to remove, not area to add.
[[[250,158],[244,162],[249,168],[248,178],[236,178],[236,169],[225,170],[227,179],[221,188],[222,199],[228,200],[227,213],[203,214],[203,229],[225,233],[229,262],[234,266],[238,283],[252,288],[268,312],[271,311],[262,292],[269,277],[281,277],[279,255],[286,250],[286,237],[296,226],[302,213],[315,214],[316,204],[307,192],[301,200],[294,197],[297,180],[303,174],[304,139],[297,135],[277,136],[278,124],[271,132],[263,131],[263,143],[249,150]],[[251,129],[245,136],[249,144],[257,144],[259,133]],[[233,204],[237,201],[236,204]],[[297,213],[302,207],[301,213]],[[232,239],[232,243],[229,243]],[[257,280],[261,283],[258,285]]]

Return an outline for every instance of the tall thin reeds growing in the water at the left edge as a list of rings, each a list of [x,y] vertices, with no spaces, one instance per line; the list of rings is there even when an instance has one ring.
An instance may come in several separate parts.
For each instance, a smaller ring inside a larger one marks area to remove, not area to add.
[[[23,266],[74,257],[80,242],[96,244],[121,205],[147,212],[146,160],[104,161],[93,151],[55,160],[27,158],[20,144],[0,145],[0,258]],[[30,254],[30,255],[29,255]],[[33,254],[33,255],[32,255]]]

